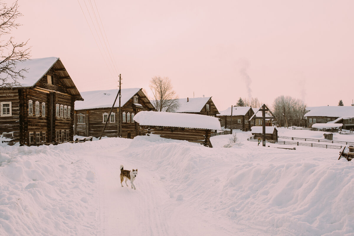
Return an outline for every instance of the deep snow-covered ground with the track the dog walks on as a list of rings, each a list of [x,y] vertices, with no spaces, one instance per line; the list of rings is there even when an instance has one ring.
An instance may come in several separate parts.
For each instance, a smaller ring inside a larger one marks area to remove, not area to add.
[[[354,235],[354,162],[339,149],[237,135],[230,148],[231,135],[214,148],[156,136],[2,146],[0,235]],[[121,164],[138,169],[136,190],[120,186]]]

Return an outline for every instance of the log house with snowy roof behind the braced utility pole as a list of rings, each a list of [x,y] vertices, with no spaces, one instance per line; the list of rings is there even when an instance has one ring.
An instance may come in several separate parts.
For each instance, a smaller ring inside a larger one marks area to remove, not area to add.
[[[119,130],[119,98],[116,100],[110,117],[118,89],[81,92],[84,101],[75,103],[75,134],[85,137],[101,136],[108,119],[103,136],[118,137]],[[133,120],[139,111],[155,110],[142,88],[121,89],[121,128],[123,138],[134,138],[138,135],[138,125]]]

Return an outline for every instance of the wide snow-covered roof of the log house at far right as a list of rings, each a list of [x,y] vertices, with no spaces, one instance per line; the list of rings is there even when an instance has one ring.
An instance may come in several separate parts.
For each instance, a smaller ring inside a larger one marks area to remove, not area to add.
[[[329,116],[329,117],[341,117],[341,116],[354,116],[353,106],[323,106],[313,107],[304,116]]]

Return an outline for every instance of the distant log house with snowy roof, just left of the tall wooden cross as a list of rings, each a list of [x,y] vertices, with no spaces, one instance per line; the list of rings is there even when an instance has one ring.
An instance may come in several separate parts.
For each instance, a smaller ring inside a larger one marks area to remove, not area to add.
[[[255,120],[249,121],[254,111],[251,107],[231,107],[220,112],[217,117],[220,120],[220,125],[225,129],[230,129],[232,121],[232,129],[240,129],[242,131],[250,131],[251,127],[255,125]]]

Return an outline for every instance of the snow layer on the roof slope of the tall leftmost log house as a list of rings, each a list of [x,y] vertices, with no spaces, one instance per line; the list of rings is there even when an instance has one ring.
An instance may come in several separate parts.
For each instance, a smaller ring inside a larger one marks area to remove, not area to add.
[[[46,58],[36,58],[28,59],[23,62],[17,62],[16,70],[27,69],[23,72],[24,79],[19,79],[18,82],[21,84],[18,87],[32,87],[35,85],[48,70],[60,60],[58,57],[46,57]]]

